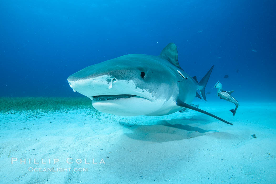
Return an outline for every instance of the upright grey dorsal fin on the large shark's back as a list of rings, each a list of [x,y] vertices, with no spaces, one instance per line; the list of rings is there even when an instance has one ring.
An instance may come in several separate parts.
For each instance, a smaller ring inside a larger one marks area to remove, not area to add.
[[[178,63],[178,53],[177,48],[174,43],[169,43],[165,48],[163,48],[161,54],[159,55],[161,58],[168,60],[171,64],[176,67],[180,67]]]

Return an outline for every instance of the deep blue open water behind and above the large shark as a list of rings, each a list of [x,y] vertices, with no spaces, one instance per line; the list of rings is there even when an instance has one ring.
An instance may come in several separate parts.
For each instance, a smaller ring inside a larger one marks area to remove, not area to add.
[[[67,83],[74,72],[174,42],[191,76],[215,65],[207,98],[220,80],[237,99],[275,99],[274,0],[0,3],[0,96],[81,96]]]

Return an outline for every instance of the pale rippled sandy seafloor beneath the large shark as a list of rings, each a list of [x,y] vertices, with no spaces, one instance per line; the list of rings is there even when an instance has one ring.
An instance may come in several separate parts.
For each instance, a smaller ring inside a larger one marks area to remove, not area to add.
[[[199,104],[233,125],[191,110],[160,117],[1,114],[0,183],[276,183],[276,103],[240,102],[235,117],[229,102]]]

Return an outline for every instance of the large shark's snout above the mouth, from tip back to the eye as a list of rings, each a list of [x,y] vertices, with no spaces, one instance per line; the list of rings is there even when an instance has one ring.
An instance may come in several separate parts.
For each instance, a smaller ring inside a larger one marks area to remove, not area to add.
[[[146,88],[146,79],[141,73],[144,76],[147,73],[144,67],[115,58],[88,66],[70,75],[67,80],[74,91],[91,99],[95,96],[134,95],[152,101],[152,91]]]

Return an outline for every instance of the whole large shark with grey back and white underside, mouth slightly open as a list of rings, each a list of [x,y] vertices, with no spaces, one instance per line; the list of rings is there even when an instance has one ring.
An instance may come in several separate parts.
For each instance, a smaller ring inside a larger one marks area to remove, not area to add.
[[[88,66],[68,77],[74,91],[92,100],[95,109],[120,116],[161,116],[192,109],[232,125],[191,104],[205,86],[213,67],[197,82],[181,69],[177,48],[168,44],[159,56],[129,54]]]

